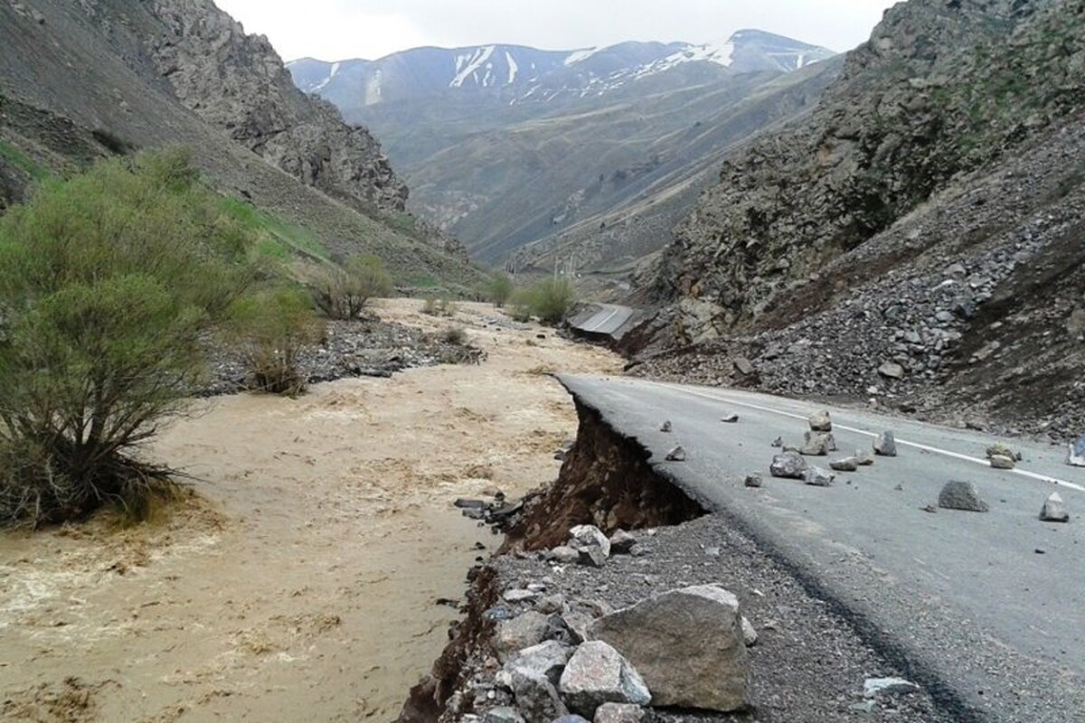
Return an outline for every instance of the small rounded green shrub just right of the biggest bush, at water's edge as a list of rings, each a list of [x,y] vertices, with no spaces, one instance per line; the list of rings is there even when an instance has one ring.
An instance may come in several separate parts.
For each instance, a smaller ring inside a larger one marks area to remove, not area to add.
[[[305,294],[277,287],[241,298],[226,330],[255,389],[291,397],[305,391],[301,356],[320,341],[324,331]]]

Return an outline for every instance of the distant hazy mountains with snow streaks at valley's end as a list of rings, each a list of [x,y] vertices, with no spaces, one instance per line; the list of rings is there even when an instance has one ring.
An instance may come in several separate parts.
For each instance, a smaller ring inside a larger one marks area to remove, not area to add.
[[[824,82],[774,95],[774,81],[818,75],[812,63],[831,54],[743,30],[709,46],[431,48],[290,69],[299,87],[374,129],[414,190],[414,209],[498,261],[653,184],[689,181],[713,153],[808,107]]]

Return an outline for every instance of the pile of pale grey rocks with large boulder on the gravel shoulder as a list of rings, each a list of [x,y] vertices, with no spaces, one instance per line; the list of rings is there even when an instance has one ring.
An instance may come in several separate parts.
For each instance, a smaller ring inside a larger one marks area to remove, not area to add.
[[[600,544],[590,530],[578,537]],[[484,720],[637,723],[650,703],[718,711],[749,705],[745,648],[757,633],[723,588],[672,590],[612,611],[550,599],[541,595],[546,586],[506,590],[484,614],[497,620],[493,645],[501,664],[496,688],[480,692]]]

